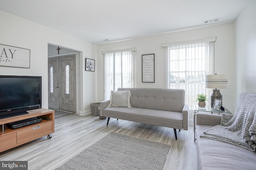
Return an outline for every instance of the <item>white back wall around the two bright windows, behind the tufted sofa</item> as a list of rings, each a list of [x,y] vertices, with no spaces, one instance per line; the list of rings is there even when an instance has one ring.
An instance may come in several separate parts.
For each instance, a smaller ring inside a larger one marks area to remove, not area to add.
[[[104,100],[104,58],[102,51],[136,47],[135,87],[166,88],[166,49],[161,48],[161,43],[208,37],[217,37],[215,42],[215,72],[228,75],[228,89],[221,89],[220,92],[223,96],[224,106],[234,112],[234,23],[98,45],[98,100]],[[155,53],[155,82],[142,83],[141,55],[151,53]],[[190,115],[190,119],[192,119],[192,115]]]

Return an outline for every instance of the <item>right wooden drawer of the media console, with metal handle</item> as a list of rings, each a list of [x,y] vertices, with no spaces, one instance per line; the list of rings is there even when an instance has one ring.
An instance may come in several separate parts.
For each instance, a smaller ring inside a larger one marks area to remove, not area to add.
[[[50,133],[53,133],[52,121],[44,124],[36,123],[29,129],[17,132],[17,144],[21,145],[27,143]]]

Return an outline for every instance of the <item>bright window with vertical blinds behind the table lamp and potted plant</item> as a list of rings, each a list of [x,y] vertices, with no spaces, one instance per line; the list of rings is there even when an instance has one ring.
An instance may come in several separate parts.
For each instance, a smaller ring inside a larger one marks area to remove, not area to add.
[[[196,104],[197,94],[210,96],[204,87],[204,76],[214,72],[214,41],[166,46],[167,88],[184,89],[189,108]]]

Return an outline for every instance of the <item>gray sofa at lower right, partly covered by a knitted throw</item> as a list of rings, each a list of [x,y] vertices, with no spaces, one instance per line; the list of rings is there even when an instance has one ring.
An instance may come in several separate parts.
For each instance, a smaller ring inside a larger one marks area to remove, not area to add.
[[[196,114],[196,145],[199,170],[255,170],[256,152],[200,135],[220,124],[221,115]]]

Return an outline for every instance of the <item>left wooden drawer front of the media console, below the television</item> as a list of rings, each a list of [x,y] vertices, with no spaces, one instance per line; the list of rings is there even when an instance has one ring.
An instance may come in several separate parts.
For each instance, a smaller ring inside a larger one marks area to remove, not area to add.
[[[0,137],[0,152],[16,147],[16,133],[11,133]]]

